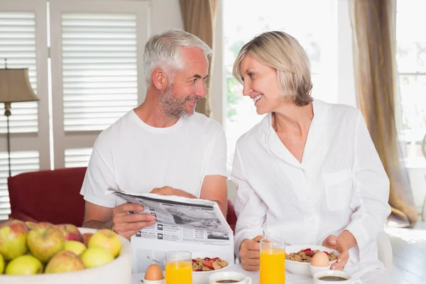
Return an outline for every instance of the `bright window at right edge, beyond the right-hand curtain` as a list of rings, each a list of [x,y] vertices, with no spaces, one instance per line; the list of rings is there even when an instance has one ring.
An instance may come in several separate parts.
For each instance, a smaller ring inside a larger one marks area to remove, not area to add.
[[[400,137],[408,168],[425,168],[420,144],[426,134],[426,33],[413,32],[413,27],[426,26],[426,2],[399,0],[397,5]]]

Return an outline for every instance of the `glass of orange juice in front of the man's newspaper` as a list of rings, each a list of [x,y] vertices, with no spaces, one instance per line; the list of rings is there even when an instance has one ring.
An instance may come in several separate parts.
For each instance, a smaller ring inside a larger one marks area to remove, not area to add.
[[[192,284],[192,255],[189,251],[165,253],[165,284]]]

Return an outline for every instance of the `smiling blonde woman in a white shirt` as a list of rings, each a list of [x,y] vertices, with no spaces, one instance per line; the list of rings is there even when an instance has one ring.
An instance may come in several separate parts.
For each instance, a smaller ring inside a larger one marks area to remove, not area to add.
[[[361,112],[312,99],[307,55],[283,32],[246,43],[233,73],[266,114],[236,143],[231,174],[243,267],[258,270],[258,241],[277,236],[336,249],[332,269],[384,271],[376,237],[391,212],[389,180]]]

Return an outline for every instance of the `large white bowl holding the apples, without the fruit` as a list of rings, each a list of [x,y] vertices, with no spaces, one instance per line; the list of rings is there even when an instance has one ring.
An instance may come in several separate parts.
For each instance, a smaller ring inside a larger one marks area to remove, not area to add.
[[[79,228],[82,234],[96,233],[96,229]],[[131,284],[131,246],[130,241],[119,236],[121,252],[119,256],[103,266],[82,271],[37,275],[0,275],[0,283],[8,284]]]

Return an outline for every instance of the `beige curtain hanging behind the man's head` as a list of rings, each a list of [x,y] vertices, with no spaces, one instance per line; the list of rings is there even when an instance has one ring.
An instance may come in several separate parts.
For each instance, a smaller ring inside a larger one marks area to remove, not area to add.
[[[214,25],[216,22],[217,0],[180,0],[185,31],[197,35],[213,49]],[[213,53],[214,54],[214,53]],[[207,97],[200,99],[195,109],[201,114],[210,116],[210,78],[212,77],[212,60],[209,58],[209,77],[206,80]]]

